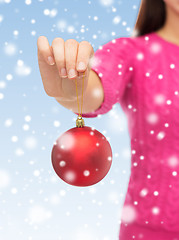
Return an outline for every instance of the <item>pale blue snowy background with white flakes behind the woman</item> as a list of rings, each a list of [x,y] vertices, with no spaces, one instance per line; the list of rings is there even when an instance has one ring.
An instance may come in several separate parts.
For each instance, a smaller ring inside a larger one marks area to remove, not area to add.
[[[0,239],[117,240],[130,175],[127,120],[119,104],[85,118],[109,140],[113,162],[91,187],[57,177],[54,141],[77,115],[46,95],[37,38],[89,41],[94,50],[130,36],[139,0],[0,0]]]

